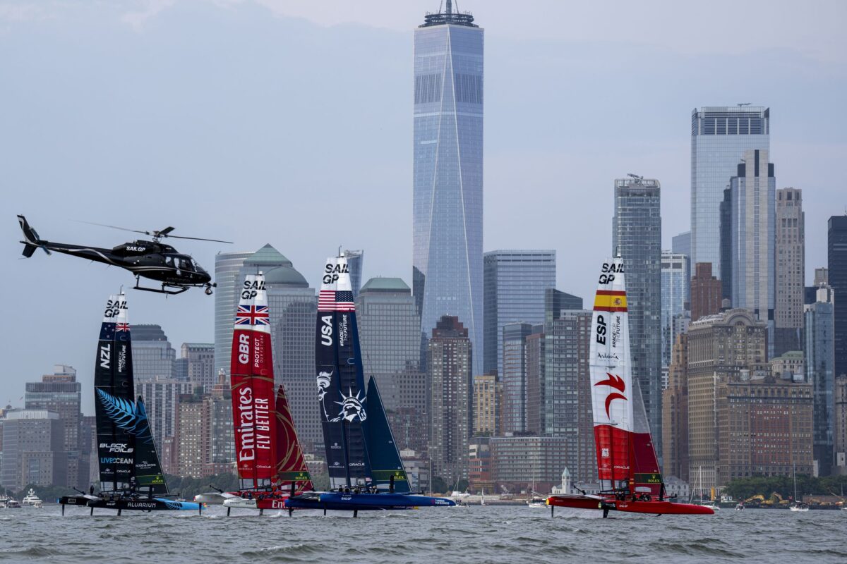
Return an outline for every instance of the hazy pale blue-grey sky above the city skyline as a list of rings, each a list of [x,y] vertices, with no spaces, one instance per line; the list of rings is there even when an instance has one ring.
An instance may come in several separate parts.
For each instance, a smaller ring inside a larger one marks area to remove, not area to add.
[[[690,112],[771,108],[777,186],[803,189],[807,280],[847,205],[847,3],[466,0],[485,29],[484,248],[556,249],[588,298],[612,186],[662,183],[662,239],[689,228]],[[42,238],[129,238],[73,220],[273,244],[314,284],[338,245],[411,282],[412,30],[438,0],[0,2],[0,402],[74,365],[91,413],[102,304],[130,273],[19,260]],[[209,271],[219,244],[181,241]],[[130,291],[174,348],[213,304]]]

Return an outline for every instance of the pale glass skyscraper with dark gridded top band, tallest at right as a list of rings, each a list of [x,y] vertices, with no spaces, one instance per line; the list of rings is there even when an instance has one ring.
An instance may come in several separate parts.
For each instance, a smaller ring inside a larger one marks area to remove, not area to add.
[[[720,204],[744,151],[770,148],[770,108],[739,104],[691,112],[691,264],[719,279]]]

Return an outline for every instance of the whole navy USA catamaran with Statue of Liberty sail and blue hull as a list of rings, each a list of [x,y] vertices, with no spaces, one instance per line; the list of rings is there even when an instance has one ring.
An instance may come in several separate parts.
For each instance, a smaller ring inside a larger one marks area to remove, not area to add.
[[[409,480],[373,378],[365,391],[347,261],[329,257],[318,294],[315,369],[330,490],[304,492],[289,509],[359,511],[453,506],[410,493]]]

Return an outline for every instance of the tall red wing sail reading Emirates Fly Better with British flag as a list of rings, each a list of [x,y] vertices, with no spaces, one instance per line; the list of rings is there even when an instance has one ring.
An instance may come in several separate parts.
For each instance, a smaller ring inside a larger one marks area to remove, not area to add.
[[[264,277],[247,275],[235,312],[230,384],[235,460],[242,489],[275,481],[274,370]]]

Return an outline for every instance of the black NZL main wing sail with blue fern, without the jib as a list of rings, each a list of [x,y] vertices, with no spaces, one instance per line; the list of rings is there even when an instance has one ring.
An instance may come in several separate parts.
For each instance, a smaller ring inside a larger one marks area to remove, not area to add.
[[[94,372],[100,490],[124,490],[134,474],[135,390],[130,324],[124,294],[109,296]]]

